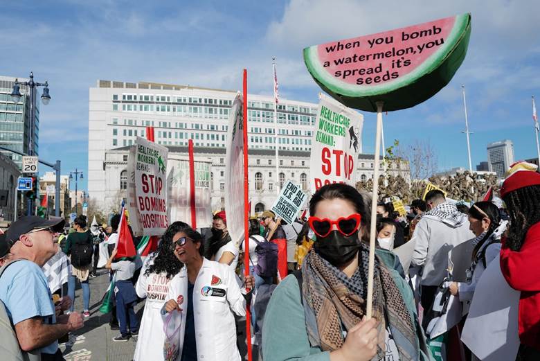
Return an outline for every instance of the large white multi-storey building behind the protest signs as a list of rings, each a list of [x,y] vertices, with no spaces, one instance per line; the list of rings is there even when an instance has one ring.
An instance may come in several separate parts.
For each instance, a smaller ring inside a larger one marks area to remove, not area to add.
[[[89,97],[88,193],[105,210],[125,197],[127,153],[145,127],[170,154],[187,158],[188,140],[195,160],[212,161],[212,204],[224,203],[228,113],[235,91],[165,85],[152,82],[98,80]],[[276,198],[276,157],[279,182],[294,179],[309,189],[309,152],[317,104],[280,99],[278,137],[273,123],[273,97],[248,96],[250,198],[254,211],[269,208]],[[276,138],[278,141],[276,142]],[[360,148],[361,149],[361,148]],[[360,155],[357,179],[372,177],[373,156]],[[408,166],[391,169],[408,179]]]

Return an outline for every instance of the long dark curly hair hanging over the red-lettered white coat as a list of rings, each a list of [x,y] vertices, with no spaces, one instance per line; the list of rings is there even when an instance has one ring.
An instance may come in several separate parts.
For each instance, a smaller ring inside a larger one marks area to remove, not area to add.
[[[172,277],[180,272],[183,263],[178,261],[177,256],[174,256],[172,238],[178,232],[186,231],[186,229],[191,229],[191,227],[187,223],[180,221],[174,222],[168,227],[165,234],[161,237],[157,252],[152,256],[154,263],[146,269],[145,276],[152,273],[160,274],[167,272],[167,279],[172,279]]]

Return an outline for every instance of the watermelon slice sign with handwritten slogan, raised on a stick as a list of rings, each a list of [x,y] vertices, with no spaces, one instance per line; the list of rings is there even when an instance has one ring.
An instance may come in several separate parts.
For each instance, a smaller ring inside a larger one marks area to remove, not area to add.
[[[431,98],[465,59],[471,15],[304,49],[309,73],[344,105],[375,112],[413,107]]]

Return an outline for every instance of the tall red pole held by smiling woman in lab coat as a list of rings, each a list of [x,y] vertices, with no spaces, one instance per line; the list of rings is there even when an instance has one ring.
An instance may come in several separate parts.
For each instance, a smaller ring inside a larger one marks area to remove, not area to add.
[[[249,188],[248,188],[248,142],[247,142],[247,70],[244,69],[244,122],[242,131],[244,133],[244,275],[249,275]],[[248,361],[251,361],[251,309],[250,304],[246,305],[246,344]]]

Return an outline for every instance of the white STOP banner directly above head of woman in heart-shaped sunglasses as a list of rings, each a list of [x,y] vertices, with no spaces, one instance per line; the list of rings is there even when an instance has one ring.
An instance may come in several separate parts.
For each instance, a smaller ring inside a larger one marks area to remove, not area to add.
[[[362,126],[361,114],[321,94],[309,164],[312,190],[332,183],[356,184]]]

